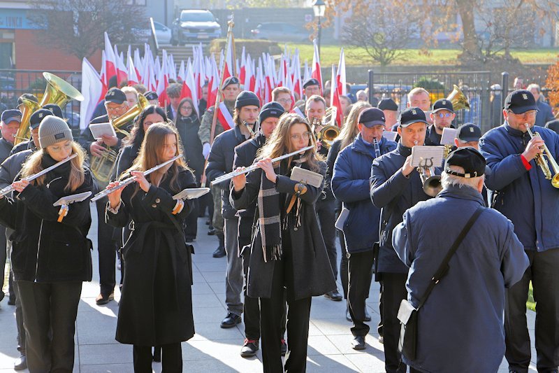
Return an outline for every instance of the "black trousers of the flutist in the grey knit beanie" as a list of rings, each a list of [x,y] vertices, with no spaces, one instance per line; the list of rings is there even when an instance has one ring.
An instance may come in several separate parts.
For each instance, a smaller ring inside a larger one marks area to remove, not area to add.
[[[74,366],[75,318],[82,282],[17,281],[29,372],[68,372]]]

